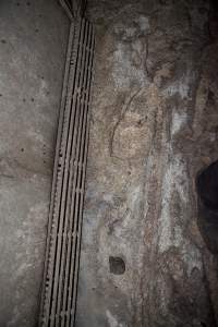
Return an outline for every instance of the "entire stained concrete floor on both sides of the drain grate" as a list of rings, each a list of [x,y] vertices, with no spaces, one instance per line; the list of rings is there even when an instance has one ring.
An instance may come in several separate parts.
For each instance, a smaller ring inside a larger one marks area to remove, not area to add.
[[[136,3],[137,2],[137,3]],[[218,154],[209,1],[90,0],[92,108],[76,327],[216,327],[194,180]],[[0,3],[0,327],[37,323],[69,20]]]

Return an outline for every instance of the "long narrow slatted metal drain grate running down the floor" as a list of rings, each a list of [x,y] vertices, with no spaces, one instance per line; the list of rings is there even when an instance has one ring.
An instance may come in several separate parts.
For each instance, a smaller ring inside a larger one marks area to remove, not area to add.
[[[94,31],[85,19],[71,25],[53,183],[39,326],[74,326]]]

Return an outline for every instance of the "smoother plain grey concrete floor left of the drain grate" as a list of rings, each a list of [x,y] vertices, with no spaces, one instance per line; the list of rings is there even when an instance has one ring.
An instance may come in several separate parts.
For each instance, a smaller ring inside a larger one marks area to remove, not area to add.
[[[38,315],[69,20],[56,0],[0,1],[0,326]]]

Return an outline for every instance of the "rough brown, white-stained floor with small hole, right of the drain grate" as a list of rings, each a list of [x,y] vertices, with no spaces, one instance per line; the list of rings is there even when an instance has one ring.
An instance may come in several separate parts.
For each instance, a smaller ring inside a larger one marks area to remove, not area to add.
[[[218,154],[209,1],[90,0],[96,70],[78,327],[218,325],[195,177]],[[113,259],[111,259],[113,258]]]

